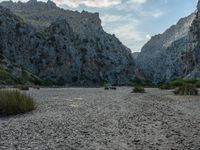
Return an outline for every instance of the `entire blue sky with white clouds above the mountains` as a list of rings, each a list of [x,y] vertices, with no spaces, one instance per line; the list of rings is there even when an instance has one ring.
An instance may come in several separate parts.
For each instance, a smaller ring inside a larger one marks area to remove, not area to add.
[[[197,3],[197,0],[53,1],[65,9],[99,12],[105,31],[115,34],[132,51],[140,51],[152,35],[162,33],[192,13]]]

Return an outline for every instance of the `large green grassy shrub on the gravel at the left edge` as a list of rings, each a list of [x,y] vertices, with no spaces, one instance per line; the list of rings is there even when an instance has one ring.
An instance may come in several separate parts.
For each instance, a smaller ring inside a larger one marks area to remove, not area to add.
[[[36,108],[34,100],[19,91],[0,91],[0,115],[16,115]]]

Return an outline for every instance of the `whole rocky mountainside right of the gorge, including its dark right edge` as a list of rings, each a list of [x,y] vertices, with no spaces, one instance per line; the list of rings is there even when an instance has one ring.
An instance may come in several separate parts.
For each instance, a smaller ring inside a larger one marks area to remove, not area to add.
[[[152,37],[136,63],[145,78],[154,83],[200,79],[200,1],[195,13]]]

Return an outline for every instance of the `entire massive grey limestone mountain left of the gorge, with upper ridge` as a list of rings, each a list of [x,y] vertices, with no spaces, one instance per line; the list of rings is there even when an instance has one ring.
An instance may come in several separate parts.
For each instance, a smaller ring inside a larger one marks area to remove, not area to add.
[[[65,85],[127,84],[134,78],[130,50],[103,31],[98,14],[66,11],[51,1],[1,5],[22,18],[0,7],[0,53],[17,66]]]

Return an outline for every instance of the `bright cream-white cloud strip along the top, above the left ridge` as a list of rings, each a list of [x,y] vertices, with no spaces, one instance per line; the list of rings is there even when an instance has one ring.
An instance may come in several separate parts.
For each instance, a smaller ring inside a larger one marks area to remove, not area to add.
[[[102,8],[118,5],[121,3],[121,0],[54,0],[54,2],[58,5],[66,4],[74,8],[80,5]]]

